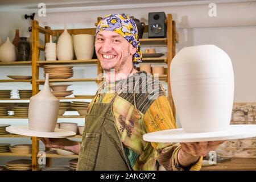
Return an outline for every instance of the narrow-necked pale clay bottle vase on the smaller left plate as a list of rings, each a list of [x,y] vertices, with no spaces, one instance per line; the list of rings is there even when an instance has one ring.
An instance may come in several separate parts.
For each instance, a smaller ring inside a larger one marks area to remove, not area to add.
[[[49,73],[43,89],[30,98],[28,107],[28,126],[30,130],[53,132],[57,123],[60,101],[52,94],[49,87]]]

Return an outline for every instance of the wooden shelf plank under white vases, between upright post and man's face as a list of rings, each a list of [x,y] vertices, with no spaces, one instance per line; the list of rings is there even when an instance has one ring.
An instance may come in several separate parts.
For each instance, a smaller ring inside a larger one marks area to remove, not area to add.
[[[88,59],[88,60],[67,60],[67,61],[38,61],[38,65],[43,67],[44,64],[97,64],[98,59]]]

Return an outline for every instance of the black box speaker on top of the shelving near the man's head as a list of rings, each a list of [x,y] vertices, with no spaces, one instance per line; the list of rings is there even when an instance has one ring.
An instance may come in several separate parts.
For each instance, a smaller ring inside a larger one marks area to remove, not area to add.
[[[166,38],[165,20],[164,12],[148,13],[148,38]]]

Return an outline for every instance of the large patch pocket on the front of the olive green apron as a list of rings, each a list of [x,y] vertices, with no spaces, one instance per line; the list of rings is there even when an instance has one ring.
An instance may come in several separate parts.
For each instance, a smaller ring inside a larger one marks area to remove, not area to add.
[[[101,134],[83,133],[77,170],[94,170],[96,167]]]

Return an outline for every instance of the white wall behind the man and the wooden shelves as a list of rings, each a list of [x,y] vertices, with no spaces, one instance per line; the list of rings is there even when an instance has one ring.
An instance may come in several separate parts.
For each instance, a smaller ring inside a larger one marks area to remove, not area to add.
[[[220,10],[220,11],[218,11]],[[147,23],[148,12],[165,11],[173,13],[180,27],[179,44],[177,50],[186,46],[199,44],[215,44],[224,49],[232,59],[235,74],[235,97],[236,102],[255,102],[256,84],[255,71],[256,63],[256,12],[255,3],[230,3],[217,4],[217,17],[209,18],[208,5],[174,6],[174,7],[148,7],[141,9],[101,10],[101,11],[79,11],[69,13],[47,13],[45,18],[36,17],[41,26],[51,26],[52,29],[63,28],[63,23],[68,23],[68,28],[94,27],[97,16],[109,13],[126,13],[134,15]],[[0,36],[3,40],[7,36],[13,40],[15,28],[20,29],[24,36],[28,35],[27,28],[29,20],[23,15],[32,12],[0,12]],[[219,13],[219,14],[218,14]],[[250,25],[250,26],[248,26]],[[207,28],[205,28],[207,27]],[[158,47],[159,52],[166,52],[166,48]],[[96,67],[75,67],[75,78],[94,77]],[[0,79],[6,75],[29,75],[31,69],[0,67]],[[42,72],[40,73],[42,76]],[[92,82],[72,83],[70,89],[75,94],[93,94],[96,91],[96,84]],[[165,85],[167,86],[167,85]],[[0,83],[0,89],[31,89],[29,84]],[[71,121],[71,119],[60,119],[60,121]],[[83,125],[84,119],[72,119]],[[26,125],[26,119],[0,119],[0,123],[11,123],[13,125]],[[0,143],[11,142],[12,144],[23,142],[30,143],[29,139],[5,139],[0,138]],[[0,165],[5,164],[9,158],[0,157]],[[59,160],[56,161],[59,163]]]

